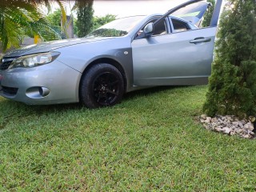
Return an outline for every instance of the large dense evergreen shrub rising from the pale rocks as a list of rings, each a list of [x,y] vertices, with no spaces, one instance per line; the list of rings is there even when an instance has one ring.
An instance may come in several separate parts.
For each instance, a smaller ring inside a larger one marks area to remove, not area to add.
[[[256,3],[232,0],[222,14],[209,91],[207,114],[256,113]]]

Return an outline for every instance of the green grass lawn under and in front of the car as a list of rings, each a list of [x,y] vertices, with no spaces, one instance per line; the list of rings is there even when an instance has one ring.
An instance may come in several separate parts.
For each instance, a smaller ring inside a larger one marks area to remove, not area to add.
[[[202,128],[206,89],[98,110],[0,98],[0,191],[255,191],[256,140]]]

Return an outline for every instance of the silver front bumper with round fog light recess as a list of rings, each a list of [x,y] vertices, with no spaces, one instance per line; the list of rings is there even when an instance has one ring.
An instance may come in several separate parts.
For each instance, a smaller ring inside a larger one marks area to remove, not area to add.
[[[78,102],[81,76],[58,60],[33,68],[0,70],[0,95],[30,105]]]

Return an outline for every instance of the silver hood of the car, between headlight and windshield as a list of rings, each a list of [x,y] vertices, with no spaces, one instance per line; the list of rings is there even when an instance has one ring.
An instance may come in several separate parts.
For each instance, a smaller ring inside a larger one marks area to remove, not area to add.
[[[113,38],[113,37],[110,37]],[[52,42],[42,42],[36,45],[25,46],[17,50],[12,50],[5,54],[5,58],[16,58],[27,54],[37,54],[43,52],[49,52],[50,50],[56,50],[64,46],[73,46],[76,44],[86,43],[86,42],[98,42],[104,41],[110,38],[71,38]]]

